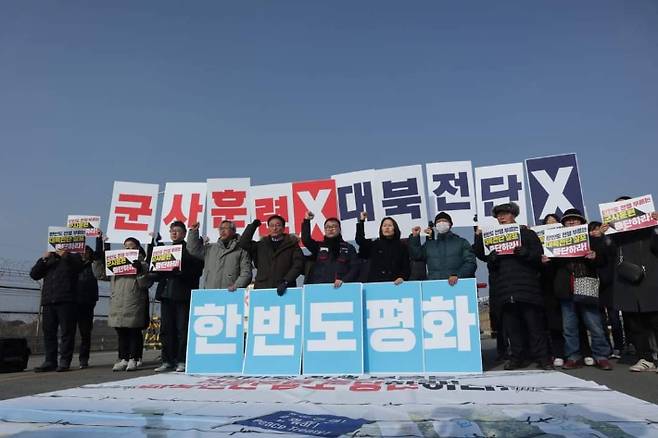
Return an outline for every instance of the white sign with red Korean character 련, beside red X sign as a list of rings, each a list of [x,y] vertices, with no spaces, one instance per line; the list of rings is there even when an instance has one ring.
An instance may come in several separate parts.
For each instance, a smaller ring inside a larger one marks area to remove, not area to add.
[[[259,219],[262,222],[258,230],[256,230],[255,239],[268,235],[267,218],[275,214],[286,220],[284,232],[295,232],[292,183],[252,186],[249,189],[249,205],[252,209],[251,217]]]

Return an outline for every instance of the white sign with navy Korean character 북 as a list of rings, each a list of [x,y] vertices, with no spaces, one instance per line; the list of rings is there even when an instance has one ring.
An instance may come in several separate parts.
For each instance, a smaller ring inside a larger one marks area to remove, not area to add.
[[[415,226],[427,226],[427,201],[421,165],[377,169],[373,187],[375,198],[381,199],[375,204],[380,220],[387,216],[395,219],[402,235]]]

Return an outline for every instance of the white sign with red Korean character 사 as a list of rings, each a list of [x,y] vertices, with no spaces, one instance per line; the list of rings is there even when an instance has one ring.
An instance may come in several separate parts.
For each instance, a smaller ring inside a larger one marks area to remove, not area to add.
[[[167,183],[160,215],[162,240],[171,242],[169,226],[175,221],[188,228],[198,222],[199,230],[203,230],[205,207],[206,183]]]

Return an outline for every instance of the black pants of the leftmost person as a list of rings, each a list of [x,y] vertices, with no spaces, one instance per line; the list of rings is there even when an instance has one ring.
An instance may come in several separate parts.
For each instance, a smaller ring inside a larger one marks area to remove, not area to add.
[[[47,364],[57,365],[57,331],[61,330],[59,365],[68,367],[75,347],[75,303],[57,303],[43,306],[43,343]]]

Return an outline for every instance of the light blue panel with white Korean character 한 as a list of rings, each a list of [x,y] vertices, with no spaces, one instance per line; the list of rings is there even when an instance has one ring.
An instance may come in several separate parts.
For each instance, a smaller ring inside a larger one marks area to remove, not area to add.
[[[244,351],[244,289],[192,291],[187,334],[190,374],[236,374]]]

